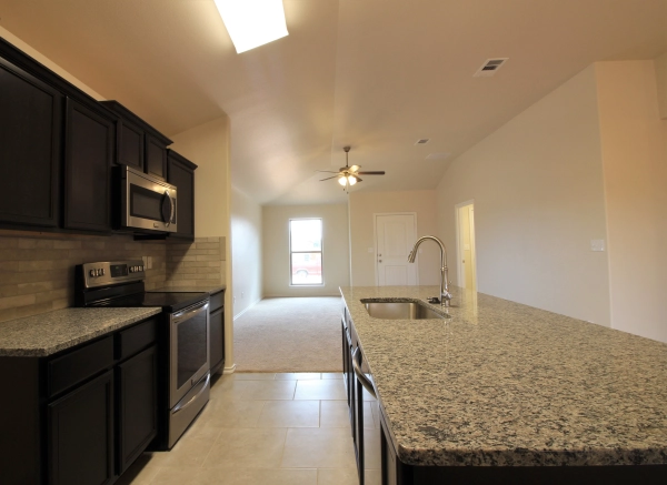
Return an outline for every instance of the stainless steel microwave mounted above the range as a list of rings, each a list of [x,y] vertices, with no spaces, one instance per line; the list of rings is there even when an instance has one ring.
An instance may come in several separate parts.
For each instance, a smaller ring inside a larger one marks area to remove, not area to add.
[[[120,228],[177,231],[177,188],[127,165],[119,168]]]

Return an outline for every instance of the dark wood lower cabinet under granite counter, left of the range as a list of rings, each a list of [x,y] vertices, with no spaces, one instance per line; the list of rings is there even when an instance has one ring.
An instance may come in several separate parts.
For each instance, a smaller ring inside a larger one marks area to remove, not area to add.
[[[0,356],[1,485],[113,483],[158,433],[159,317],[48,357]]]

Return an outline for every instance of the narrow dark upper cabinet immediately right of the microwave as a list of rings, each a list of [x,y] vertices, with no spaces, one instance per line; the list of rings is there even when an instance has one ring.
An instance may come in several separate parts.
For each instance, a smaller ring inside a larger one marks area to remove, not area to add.
[[[170,238],[195,239],[195,170],[197,165],[188,159],[178,154],[173,150],[168,152],[168,179],[167,181],[176,185],[177,204],[176,222],[178,232],[172,233]]]

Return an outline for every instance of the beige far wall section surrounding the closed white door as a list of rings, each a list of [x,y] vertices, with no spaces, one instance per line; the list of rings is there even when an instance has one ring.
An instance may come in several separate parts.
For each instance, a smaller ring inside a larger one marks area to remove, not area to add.
[[[432,190],[397,192],[352,192],[349,196],[351,281],[356,286],[375,286],[376,247],[374,214],[417,213],[417,238],[436,234],[436,192]],[[372,249],[372,253],[368,250]],[[455,247],[447,244],[447,247]],[[419,284],[440,284],[440,251],[425,243],[419,254]]]

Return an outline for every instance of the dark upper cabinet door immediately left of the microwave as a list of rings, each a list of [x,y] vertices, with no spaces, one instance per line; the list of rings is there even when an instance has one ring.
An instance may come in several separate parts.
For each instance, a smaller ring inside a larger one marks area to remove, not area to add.
[[[64,228],[111,231],[115,120],[67,100]]]

